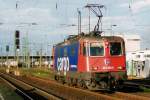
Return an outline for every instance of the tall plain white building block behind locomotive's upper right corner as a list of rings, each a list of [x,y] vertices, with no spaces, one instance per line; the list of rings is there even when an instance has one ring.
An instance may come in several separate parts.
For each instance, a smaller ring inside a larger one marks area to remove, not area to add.
[[[124,39],[126,53],[141,50],[141,38],[139,35],[117,35]]]

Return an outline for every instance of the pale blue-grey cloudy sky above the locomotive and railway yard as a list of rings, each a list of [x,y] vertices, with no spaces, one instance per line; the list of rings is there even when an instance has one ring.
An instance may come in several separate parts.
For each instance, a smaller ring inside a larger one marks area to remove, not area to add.
[[[150,48],[150,0],[0,0],[0,48],[13,51],[14,32],[20,30],[21,45],[28,35],[31,50],[43,48],[50,54],[50,47],[67,37],[77,34],[77,8],[82,12],[82,31],[88,32],[88,9],[86,4],[103,4],[103,30],[115,34],[138,34],[142,49]],[[91,30],[97,18],[91,13]],[[32,25],[36,23],[36,25]],[[41,46],[39,46],[41,45]],[[32,49],[34,48],[34,49]]]

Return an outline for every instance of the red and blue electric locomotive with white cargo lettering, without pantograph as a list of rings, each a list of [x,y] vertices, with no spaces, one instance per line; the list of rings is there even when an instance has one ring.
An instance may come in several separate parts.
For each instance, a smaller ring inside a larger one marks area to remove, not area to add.
[[[53,48],[55,80],[90,90],[120,87],[126,80],[121,37],[94,32],[72,36]]]

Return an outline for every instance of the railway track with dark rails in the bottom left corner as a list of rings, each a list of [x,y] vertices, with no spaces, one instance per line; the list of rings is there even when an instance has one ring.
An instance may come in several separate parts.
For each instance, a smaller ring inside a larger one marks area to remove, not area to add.
[[[49,94],[23,81],[10,77],[9,75],[0,74],[0,78],[9,84],[25,100],[61,100],[61,98],[53,96],[52,94]]]

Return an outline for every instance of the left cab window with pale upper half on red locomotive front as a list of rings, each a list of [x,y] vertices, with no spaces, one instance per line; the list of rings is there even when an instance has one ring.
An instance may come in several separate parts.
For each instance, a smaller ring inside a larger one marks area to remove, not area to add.
[[[104,46],[102,43],[90,43],[90,56],[104,56]]]

